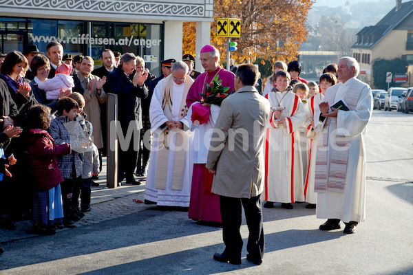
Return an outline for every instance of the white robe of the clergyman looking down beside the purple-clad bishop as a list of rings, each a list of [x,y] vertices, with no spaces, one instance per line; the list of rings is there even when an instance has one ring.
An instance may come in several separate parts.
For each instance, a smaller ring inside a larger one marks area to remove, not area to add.
[[[168,155],[168,168],[165,173],[167,173],[167,182],[165,189],[156,188],[156,169],[158,165],[158,148],[160,144],[160,134],[165,130],[165,127],[160,129],[165,122],[169,119],[165,116],[164,110],[162,109],[162,100],[164,100],[163,95],[163,85],[165,85],[165,79],[160,80],[158,85],[156,85],[153,91],[153,96],[151,99],[151,105],[149,107],[149,118],[151,120],[151,128],[153,131],[153,142],[151,146],[151,158],[149,161],[147,181],[145,186],[145,199],[149,201],[155,201],[158,206],[182,206],[189,207],[189,199],[191,196],[191,179],[193,162],[191,162],[191,145],[193,134],[187,131],[188,140],[186,144],[186,159],[184,167],[184,177],[182,183],[182,190],[173,190],[171,188],[171,183],[173,179],[173,164],[175,159],[175,151],[177,148],[176,136],[177,131],[169,131],[169,155]],[[184,83],[177,85],[173,82],[173,94],[172,94],[172,108],[171,115],[173,120],[180,120],[185,124],[186,117],[180,119],[181,115],[181,103],[182,100],[186,100],[184,96]],[[179,130],[182,131],[182,130]],[[184,147],[178,144],[179,147]]]

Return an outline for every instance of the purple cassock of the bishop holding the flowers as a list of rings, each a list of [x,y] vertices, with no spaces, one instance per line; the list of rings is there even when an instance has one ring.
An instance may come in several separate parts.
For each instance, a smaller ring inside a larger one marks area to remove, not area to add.
[[[229,87],[229,91],[234,89],[234,74],[218,66],[213,72],[204,72],[195,79],[187,95],[188,108],[194,102],[201,101],[200,93],[204,93],[205,85],[211,83],[217,74],[219,79],[222,80],[221,85],[223,87]],[[205,164],[193,164],[188,217],[189,219],[221,223],[220,196],[211,193],[211,189],[204,186],[205,177],[211,177],[211,174],[205,168]]]

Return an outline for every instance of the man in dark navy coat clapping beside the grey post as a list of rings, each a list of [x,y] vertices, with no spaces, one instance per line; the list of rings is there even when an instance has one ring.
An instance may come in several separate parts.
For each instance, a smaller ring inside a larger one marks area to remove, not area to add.
[[[139,140],[140,129],[142,129],[141,99],[148,96],[148,89],[145,86],[148,73],[136,73],[135,68],[136,56],[131,53],[123,54],[119,66],[107,76],[104,89],[107,93],[118,95],[118,122],[123,132],[120,133],[116,128],[118,136],[123,135],[119,138],[118,182],[126,177],[127,184],[139,185],[140,182],[134,178],[139,150],[136,141]],[[132,131],[130,139],[130,135],[126,139],[128,130]]]

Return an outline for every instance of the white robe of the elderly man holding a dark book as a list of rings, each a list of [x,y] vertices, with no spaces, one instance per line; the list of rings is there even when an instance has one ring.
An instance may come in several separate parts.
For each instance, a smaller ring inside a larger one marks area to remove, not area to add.
[[[370,87],[357,78],[350,78],[346,83],[338,83],[327,89],[326,94],[337,90],[335,102],[344,98],[346,91],[361,87],[359,100],[353,111],[341,111],[337,113],[337,127],[330,123],[328,127],[328,148],[335,144],[334,137],[345,135],[350,138],[348,149],[348,162],[346,179],[343,192],[326,190],[317,193],[317,218],[341,219],[362,222],[366,219],[366,150],[364,135],[366,125],[372,115],[372,91]],[[315,131],[322,131],[324,122],[319,122],[320,111],[315,113]],[[327,151],[327,179],[330,168],[332,150]]]

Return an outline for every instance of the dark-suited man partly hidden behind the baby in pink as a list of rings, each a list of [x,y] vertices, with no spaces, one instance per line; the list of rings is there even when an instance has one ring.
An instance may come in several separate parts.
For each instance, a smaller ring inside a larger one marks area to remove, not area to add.
[[[47,78],[54,78],[57,67],[59,67],[62,64],[63,46],[61,45],[61,43],[57,41],[50,42],[46,46],[46,55],[50,59],[50,72]],[[72,69],[70,75],[73,76],[74,81],[74,88],[72,89],[72,91],[77,91],[78,93],[83,94],[81,81],[77,77],[77,74],[74,71],[74,69]]]

